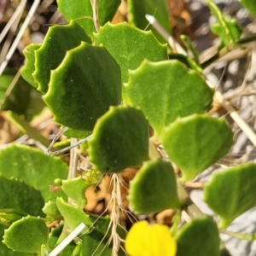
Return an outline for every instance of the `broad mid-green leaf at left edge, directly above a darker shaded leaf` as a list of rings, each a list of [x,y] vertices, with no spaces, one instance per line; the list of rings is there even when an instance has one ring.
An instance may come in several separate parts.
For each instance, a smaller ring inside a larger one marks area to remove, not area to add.
[[[56,177],[66,178],[68,167],[59,158],[49,157],[38,149],[12,145],[0,154],[0,174],[15,177],[41,191],[44,201],[55,200],[65,194],[59,190],[49,191]]]

